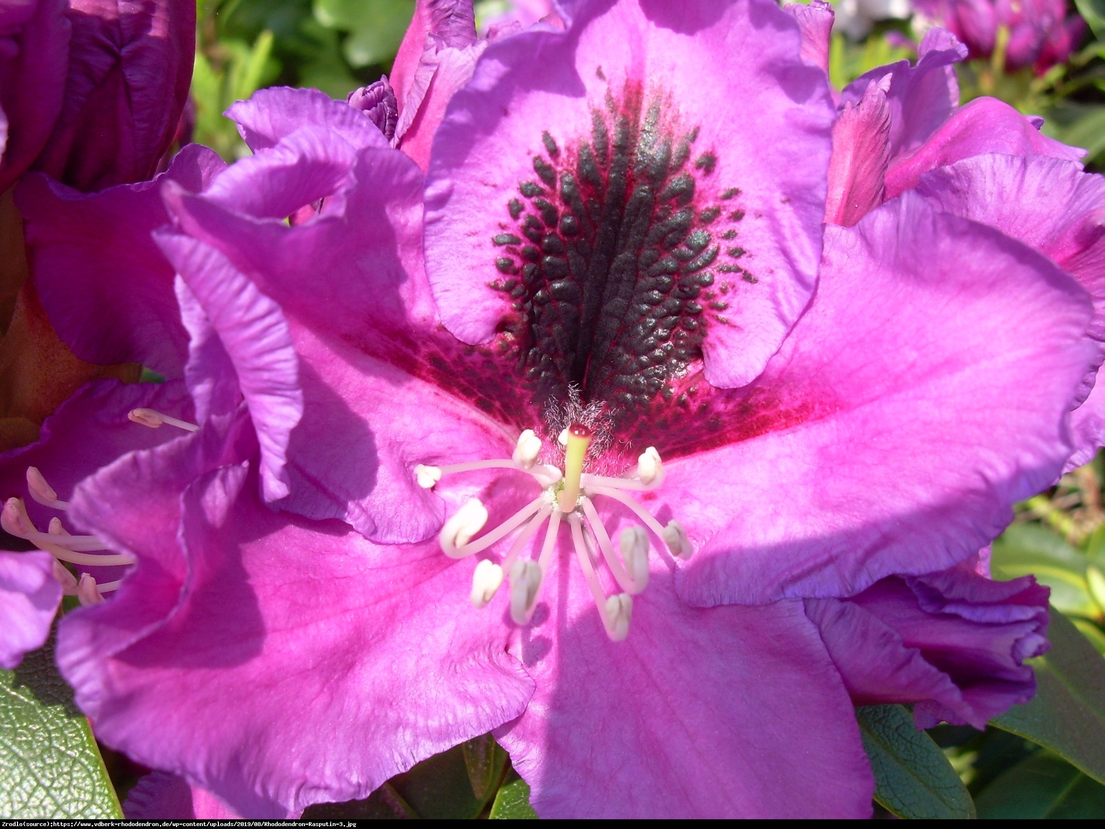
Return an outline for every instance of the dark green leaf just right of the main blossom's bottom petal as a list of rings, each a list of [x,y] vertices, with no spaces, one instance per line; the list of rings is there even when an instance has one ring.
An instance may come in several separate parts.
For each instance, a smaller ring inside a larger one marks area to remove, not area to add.
[[[855,710],[875,775],[875,800],[901,818],[972,818],[975,805],[933,738],[901,705]]]

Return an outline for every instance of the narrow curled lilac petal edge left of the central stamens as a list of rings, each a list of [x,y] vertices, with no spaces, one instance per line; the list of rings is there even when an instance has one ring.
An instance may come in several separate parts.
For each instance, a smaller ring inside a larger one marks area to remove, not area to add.
[[[303,417],[298,360],[287,321],[219,251],[169,231],[158,231],[155,239],[203,307],[234,366],[261,443],[265,499],[282,499],[288,493],[288,439]]]

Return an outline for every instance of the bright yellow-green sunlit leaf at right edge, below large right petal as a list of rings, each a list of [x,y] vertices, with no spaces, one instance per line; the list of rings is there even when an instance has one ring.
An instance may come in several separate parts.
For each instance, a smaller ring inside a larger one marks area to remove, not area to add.
[[[1014,524],[993,542],[992,550],[994,578],[1035,576],[1051,588],[1051,604],[1064,613],[1099,615],[1086,583],[1085,555],[1046,527]]]

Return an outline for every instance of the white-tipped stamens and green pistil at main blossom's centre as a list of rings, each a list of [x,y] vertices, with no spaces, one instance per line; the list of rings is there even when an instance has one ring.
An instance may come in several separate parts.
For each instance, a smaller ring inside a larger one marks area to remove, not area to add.
[[[678,522],[663,526],[629,493],[657,489],[664,480],[660,454],[649,447],[638,458],[631,476],[611,478],[583,471],[591,429],[573,423],[561,432],[564,469],[538,463],[541,440],[527,429],[518,438],[509,459],[455,463],[446,466],[419,464],[414,475],[425,489],[433,487],[442,475],[486,469],[508,469],[528,472],[541,486],[541,493],[498,526],[478,538],[474,536],[487,522],[487,508],[478,499],[467,501],[441,528],[441,548],[452,558],[482,553],[520,528],[501,563],[483,559],[472,578],[472,604],[486,607],[502,586],[504,575],[509,580],[511,617],[517,625],[529,623],[541,584],[556,549],[561,523],[568,524],[576,558],[591,596],[602,618],[607,634],[621,641],[629,633],[633,616],[633,596],[649,584],[649,533],[666,546],[676,558],[690,558],[691,544]],[[598,496],[612,499],[641,520],[643,525],[625,527],[618,536],[618,548],[603,526],[594,507]],[[536,558],[522,557],[522,550],[541,526],[548,522],[540,552]],[[607,596],[599,580],[597,565],[606,563],[620,591]]]

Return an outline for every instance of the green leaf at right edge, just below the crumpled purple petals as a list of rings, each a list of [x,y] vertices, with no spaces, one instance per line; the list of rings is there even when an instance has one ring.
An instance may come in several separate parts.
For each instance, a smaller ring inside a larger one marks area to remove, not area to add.
[[[1035,697],[992,724],[1052,749],[1105,783],[1105,660],[1054,608],[1048,638],[1051,650],[1032,661]]]

